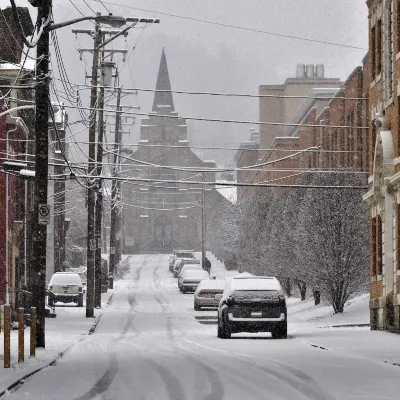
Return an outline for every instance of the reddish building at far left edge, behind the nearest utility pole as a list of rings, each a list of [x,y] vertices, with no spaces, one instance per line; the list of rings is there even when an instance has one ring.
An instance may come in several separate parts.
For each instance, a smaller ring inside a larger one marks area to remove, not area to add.
[[[30,35],[33,24],[27,8],[19,7],[24,33]],[[25,55],[19,30],[15,28],[11,8],[0,10],[0,103],[1,111],[20,105],[14,99],[32,100],[32,88],[10,88],[33,83],[31,60],[22,61]],[[21,65],[21,63],[23,65]],[[29,289],[32,251],[32,194],[33,182],[15,174],[4,173],[4,160],[29,163],[26,154],[33,153],[33,110],[19,110],[0,118],[0,304],[6,302],[6,276],[9,303],[21,304],[21,291]],[[8,212],[6,212],[6,210]],[[8,270],[8,275],[6,275]]]

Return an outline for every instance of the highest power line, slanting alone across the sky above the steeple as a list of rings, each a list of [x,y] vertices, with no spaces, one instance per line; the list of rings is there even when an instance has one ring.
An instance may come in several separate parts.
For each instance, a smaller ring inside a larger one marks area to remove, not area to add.
[[[100,2],[100,0],[91,0],[91,1]],[[124,4],[114,3],[114,2],[110,2],[110,1],[102,0],[102,2],[104,4],[109,4],[109,5],[113,5],[113,6],[117,6],[117,7],[130,8],[132,10],[151,12],[154,14],[165,15],[165,16],[173,17],[173,18],[186,19],[186,20],[194,21],[194,22],[201,22],[201,23],[208,24],[208,25],[219,26],[221,28],[239,29],[242,31],[253,32],[253,33],[262,33],[265,35],[276,36],[276,37],[280,37],[280,38],[284,38],[284,39],[301,40],[301,41],[310,42],[310,43],[318,43],[318,44],[324,44],[324,45],[329,45],[329,46],[345,47],[345,48],[350,48],[350,49],[355,49],[355,50],[363,50],[363,51],[368,50],[365,47],[359,47],[359,46],[354,46],[354,45],[349,45],[349,44],[336,43],[336,42],[330,42],[330,41],[324,41],[324,40],[318,40],[318,39],[310,39],[310,38],[305,38],[305,37],[300,37],[300,36],[286,35],[286,34],[282,34],[282,33],[264,31],[262,29],[247,28],[244,26],[224,24],[221,22],[208,21],[208,20],[204,20],[204,19],[200,19],[200,18],[186,17],[186,16],[182,16],[182,15],[171,14],[171,13],[161,12],[161,11],[157,11],[157,10],[148,10],[148,9],[144,9],[144,8],[127,6]]]

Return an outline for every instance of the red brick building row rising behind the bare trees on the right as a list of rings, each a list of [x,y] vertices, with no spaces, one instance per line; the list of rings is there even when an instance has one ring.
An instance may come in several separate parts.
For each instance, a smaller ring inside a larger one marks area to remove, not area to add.
[[[368,119],[366,68],[367,58],[341,87],[311,89],[268,149],[259,148],[255,141],[242,142],[237,166],[258,167],[238,171],[238,182],[293,185],[312,169],[368,171],[368,131],[363,129]],[[260,143],[265,143],[262,135],[261,130]],[[239,199],[245,201],[251,191],[251,187],[240,188]]]

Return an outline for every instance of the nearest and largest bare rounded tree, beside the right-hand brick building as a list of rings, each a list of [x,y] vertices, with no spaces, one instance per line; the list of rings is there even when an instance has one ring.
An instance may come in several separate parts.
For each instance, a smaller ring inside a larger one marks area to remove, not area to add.
[[[304,279],[318,288],[335,313],[368,284],[368,209],[359,190],[364,178],[319,174],[315,185],[348,185],[342,189],[307,189],[298,214],[295,248]]]

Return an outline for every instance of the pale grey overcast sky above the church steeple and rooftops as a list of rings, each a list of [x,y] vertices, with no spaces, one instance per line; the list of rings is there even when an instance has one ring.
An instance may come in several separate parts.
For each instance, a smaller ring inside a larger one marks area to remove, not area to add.
[[[99,2],[85,1],[94,11],[107,13]],[[85,1],[53,0],[55,22],[80,16],[72,3],[83,14],[93,14]],[[0,0],[0,4],[5,7],[9,2]],[[27,0],[19,0],[17,4],[28,6],[34,13]],[[122,39],[114,44],[114,48],[130,51],[137,42],[129,66],[123,67],[122,61],[119,62],[119,68],[123,68],[121,82],[124,87],[155,87],[163,47],[173,89],[253,94],[258,93],[261,84],[280,84],[287,77],[295,76],[296,65],[300,62],[323,63],[327,77],[346,79],[360,65],[367,51],[367,6],[364,0],[105,0],[104,4],[114,15],[161,19],[159,25],[146,28],[138,42],[142,29],[131,30],[126,43]],[[162,13],[363,49],[282,38]],[[89,26],[81,23],[75,27]],[[71,27],[60,30],[58,36],[70,80],[83,83],[85,65],[90,68],[91,61],[89,55],[85,57],[86,64],[79,61],[76,48],[89,47],[90,41],[84,37],[76,40]],[[88,95],[87,91],[82,93],[86,104]],[[183,95],[174,95],[174,100],[176,110],[182,116],[258,120],[257,100]],[[132,96],[125,101],[140,104],[141,111],[147,113],[151,110],[152,95],[139,93],[138,98]],[[75,118],[78,118],[76,113],[71,112],[70,120]],[[125,137],[126,143],[138,140],[139,125],[140,119],[137,119],[133,134]],[[189,122],[190,141],[195,145],[237,146],[249,138],[251,127]],[[85,140],[87,134],[80,138]],[[219,163],[227,163],[233,156],[234,152],[221,151],[208,151],[204,155]]]

